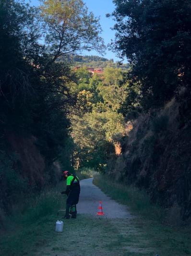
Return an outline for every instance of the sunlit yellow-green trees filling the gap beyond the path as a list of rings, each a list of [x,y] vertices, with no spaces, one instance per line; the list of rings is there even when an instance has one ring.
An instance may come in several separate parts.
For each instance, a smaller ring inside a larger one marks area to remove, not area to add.
[[[121,135],[124,129],[123,116],[118,110],[128,85],[121,83],[124,73],[119,68],[107,67],[103,76],[88,73],[86,67],[75,71],[79,108],[83,106],[84,114],[70,116],[73,161],[78,163],[74,166],[103,172],[109,155],[115,152],[114,136]]]

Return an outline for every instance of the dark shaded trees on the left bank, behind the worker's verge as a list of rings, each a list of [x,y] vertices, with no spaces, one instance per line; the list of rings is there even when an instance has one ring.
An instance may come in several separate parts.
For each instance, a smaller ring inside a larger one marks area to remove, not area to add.
[[[44,69],[49,57],[40,43],[38,21],[37,8],[0,0],[0,208],[6,211],[19,193],[55,181],[51,167],[66,147],[66,116],[75,104],[68,88],[70,69],[60,62],[48,72]],[[16,140],[14,146],[10,137]],[[35,148],[29,158],[22,149],[15,154],[19,144],[27,148],[28,143],[29,148],[29,142]],[[37,169],[35,155],[43,159]]]

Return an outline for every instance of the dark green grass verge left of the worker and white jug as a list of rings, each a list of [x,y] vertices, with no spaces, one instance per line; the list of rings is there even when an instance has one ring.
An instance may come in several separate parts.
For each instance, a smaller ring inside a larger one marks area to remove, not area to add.
[[[55,229],[57,212],[65,209],[66,196],[60,194],[63,186],[60,183],[56,188],[28,199],[20,213],[5,219],[6,230],[0,235],[1,256],[29,255],[32,248],[48,243],[50,230]]]

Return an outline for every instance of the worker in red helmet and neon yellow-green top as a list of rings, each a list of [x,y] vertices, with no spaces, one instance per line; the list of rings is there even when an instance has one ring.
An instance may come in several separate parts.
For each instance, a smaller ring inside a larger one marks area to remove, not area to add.
[[[69,219],[70,213],[72,214],[72,218],[76,218],[76,204],[78,203],[80,196],[80,181],[76,175],[71,174],[69,171],[64,171],[62,176],[64,177],[64,180],[66,180],[66,191],[62,191],[61,194],[66,194],[68,196],[64,218]]]

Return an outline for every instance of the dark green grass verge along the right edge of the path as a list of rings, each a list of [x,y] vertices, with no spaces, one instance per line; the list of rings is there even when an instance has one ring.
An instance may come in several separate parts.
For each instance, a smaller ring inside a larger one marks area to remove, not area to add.
[[[109,180],[107,176],[101,175],[95,176],[94,184],[112,199],[127,205],[131,214],[135,216],[131,220],[132,231],[126,239],[127,243],[133,244],[133,241],[137,241],[141,248],[145,246],[155,248],[160,256],[191,255],[190,228],[164,224],[164,209],[158,205],[152,205],[144,191],[118,184]],[[127,227],[127,230],[130,229],[130,226]],[[132,252],[126,255],[138,256],[139,254]]]

